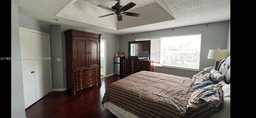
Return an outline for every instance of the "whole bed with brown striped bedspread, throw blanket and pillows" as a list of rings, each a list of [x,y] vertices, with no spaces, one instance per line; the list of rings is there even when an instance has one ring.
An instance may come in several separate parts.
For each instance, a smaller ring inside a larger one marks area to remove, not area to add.
[[[230,56],[191,78],[136,72],[110,84],[102,105],[118,118],[228,118]]]

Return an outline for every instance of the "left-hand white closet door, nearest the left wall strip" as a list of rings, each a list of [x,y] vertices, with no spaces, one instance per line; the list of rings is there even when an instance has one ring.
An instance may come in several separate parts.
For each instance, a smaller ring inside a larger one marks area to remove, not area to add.
[[[34,64],[33,64],[33,43],[31,32],[20,30],[20,50],[22,56],[22,77],[24,89],[25,108],[36,102]]]

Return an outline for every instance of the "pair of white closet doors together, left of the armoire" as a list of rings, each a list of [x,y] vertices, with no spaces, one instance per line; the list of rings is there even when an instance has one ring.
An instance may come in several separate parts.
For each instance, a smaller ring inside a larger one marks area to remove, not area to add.
[[[20,30],[25,109],[52,90],[50,40],[40,33]]]

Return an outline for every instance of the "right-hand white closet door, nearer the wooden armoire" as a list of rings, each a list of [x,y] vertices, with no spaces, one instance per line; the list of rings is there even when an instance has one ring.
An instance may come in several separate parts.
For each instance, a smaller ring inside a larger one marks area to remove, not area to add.
[[[50,92],[50,55],[48,36],[32,33],[36,101]]]

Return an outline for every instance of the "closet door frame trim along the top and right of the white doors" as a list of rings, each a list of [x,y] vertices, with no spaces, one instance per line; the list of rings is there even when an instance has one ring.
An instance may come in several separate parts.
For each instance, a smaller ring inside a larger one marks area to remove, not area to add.
[[[22,28],[22,27],[19,27],[19,30],[24,30],[24,31],[28,31],[28,32],[33,32],[33,33],[37,33],[37,34],[46,35],[48,37],[49,57],[51,57],[50,34],[44,33],[44,32],[39,32],[39,31],[36,31],[36,30],[30,30],[30,29]],[[50,68],[49,68],[49,70],[50,70],[50,92],[52,92],[52,63],[51,63],[51,61],[49,61],[49,66],[50,66]]]

